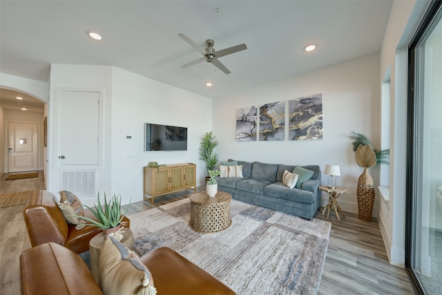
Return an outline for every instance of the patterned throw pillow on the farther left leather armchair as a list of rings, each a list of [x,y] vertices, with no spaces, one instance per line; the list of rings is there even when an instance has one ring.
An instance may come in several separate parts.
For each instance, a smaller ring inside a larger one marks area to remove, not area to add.
[[[79,230],[84,228],[86,221],[73,216],[84,216],[84,207],[79,198],[70,191],[59,191],[59,194],[60,204],[58,207],[60,208],[61,213],[63,213],[64,218],[66,218],[70,224],[77,225],[75,229]]]

